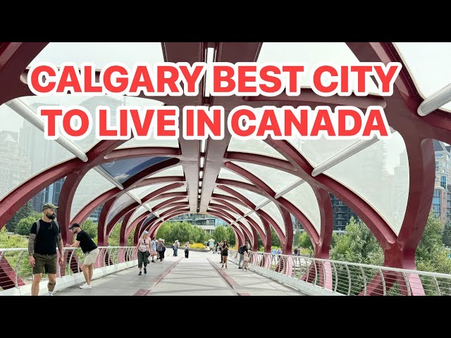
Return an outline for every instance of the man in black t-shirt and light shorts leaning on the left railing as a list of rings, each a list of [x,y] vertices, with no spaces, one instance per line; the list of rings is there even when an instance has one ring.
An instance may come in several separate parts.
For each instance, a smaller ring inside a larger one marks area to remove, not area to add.
[[[97,255],[99,255],[99,248],[97,248],[97,245],[91,237],[89,237],[89,234],[83,231],[78,223],[73,223],[73,225],[69,227],[69,230],[72,230],[72,233],[76,234],[77,238],[74,244],[66,244],[66,246],[75,248],[80,246],[83,253],[86,253],[86,258],[82,265],[82,271],[86,282],[85,284],[80,285],[80,289],[91,289],[92,273],[94,271],[94,263]]]

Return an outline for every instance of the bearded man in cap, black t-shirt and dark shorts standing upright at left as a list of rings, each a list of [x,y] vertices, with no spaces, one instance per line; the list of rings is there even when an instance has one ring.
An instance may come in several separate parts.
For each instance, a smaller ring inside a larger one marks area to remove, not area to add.
[[[49,277],[47,296],[53,296],[56,284],[57,255],[56,246],[59,251],[59,261],[64,263],[63,239],[61,238],[61,229],[54,222],[56,218],[55,211],[58,206],[46,203],[42,206],[42,219],[39,220],[39,231],[36,223],[33,223],[28,237],[28,263],[33,267],[33,283],[31,295],[37,296],[39,293],[39,282],[42,278],[42,272]]]

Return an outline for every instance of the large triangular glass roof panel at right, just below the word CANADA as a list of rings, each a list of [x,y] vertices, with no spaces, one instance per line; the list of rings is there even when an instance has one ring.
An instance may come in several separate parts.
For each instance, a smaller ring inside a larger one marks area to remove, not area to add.
[[[361,196],[399,234],[407,208],[409,161],[398,132],[324,173]]]

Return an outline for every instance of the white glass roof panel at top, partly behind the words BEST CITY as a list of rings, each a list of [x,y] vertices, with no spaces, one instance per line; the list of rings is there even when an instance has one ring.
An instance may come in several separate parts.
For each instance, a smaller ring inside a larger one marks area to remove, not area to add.
[[[264,42],[257,62],[304,63],[304,72],[300,76],[301,87],[311,87],[309,75],[317,65],[327,63],[336,66],[357,63],[359,60],[345,42]],[[352,90],[355,84],[353,81],[351,83]],[[366,86],[369,92],[377,92],[376,84],[369,78]]]

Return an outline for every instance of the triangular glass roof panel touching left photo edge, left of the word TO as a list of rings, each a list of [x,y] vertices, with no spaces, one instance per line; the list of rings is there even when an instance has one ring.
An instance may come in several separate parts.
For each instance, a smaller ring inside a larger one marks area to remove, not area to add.
[[[75,158],[6,104],[0,106],[0,119],[0,199],[37,173]]]

